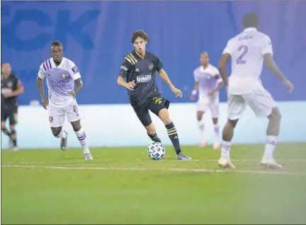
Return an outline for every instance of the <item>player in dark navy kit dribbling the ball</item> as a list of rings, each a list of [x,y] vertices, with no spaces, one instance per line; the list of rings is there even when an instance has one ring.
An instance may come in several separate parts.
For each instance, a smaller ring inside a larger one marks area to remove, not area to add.
[[[131,42],[135,50],[125,57],[121,65],[118,85],[128,89],[130,104],[142,125],[147,129],[147,134],[152,141],[161,142],[152,123],[149,110],[164,122],[168,136],[176,151],[176,158],[179,160],[190,160],[190,157],[181,152],[179,135],[168,112],[170,103],[169,100],[164,99],[161,93],[159,93],[155,83],[155,72],[158,72],[159,76],[168,84],[176,97],[182,97],[181,90],[175,88],[171,83],[166,71],[162,69],[163,64],[159,58],[155,54],[146,52],[149,36],[145,31],[136,30],[132,34]],[[127,81],[125,81],[125,78]]]

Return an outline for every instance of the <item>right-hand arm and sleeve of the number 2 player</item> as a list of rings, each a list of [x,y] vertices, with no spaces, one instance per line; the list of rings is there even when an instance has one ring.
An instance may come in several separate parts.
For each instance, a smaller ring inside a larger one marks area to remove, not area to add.
[[[280,71],[278,65],[273,59],[273,49],[270,38],[266,38],[266,43],[263,47],[262,54],[263,54],[263,62],[268,68],[268,70],[271,71],[272,74],[277,76],[278,79],[280,79],[280,81],[282,81],[285,86],[288,86],[290,92],[293,91],[293,84],[290,81],[288,81],[288,79],[285,78],[285,76]]]

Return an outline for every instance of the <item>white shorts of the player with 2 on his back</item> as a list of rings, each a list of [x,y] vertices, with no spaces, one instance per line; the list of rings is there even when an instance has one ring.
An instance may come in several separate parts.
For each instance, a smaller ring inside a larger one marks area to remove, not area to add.
[[[229,120],[238,120],[242,116],[246,105],[249,105],[257,117],[268,117],[272,113],[272,108],[277,106],[271,94],[264,88],[248,94],[229,94],[227,104]]]

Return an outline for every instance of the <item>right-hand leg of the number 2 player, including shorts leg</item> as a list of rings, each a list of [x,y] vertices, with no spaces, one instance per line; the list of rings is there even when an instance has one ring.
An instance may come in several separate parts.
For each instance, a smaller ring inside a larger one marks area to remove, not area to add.
[[[273,158],[273,151],[278,139],[281,120],[280,111],[278,110],[275,100],[273,100],[271,94],[264,89],[245,96],[245,99],[246,103],[248,103],[257,117],[268,117],[269,120],[266,131],[267,139],[265,151],[261,159],[262,166],[268,168],[282,168]]]

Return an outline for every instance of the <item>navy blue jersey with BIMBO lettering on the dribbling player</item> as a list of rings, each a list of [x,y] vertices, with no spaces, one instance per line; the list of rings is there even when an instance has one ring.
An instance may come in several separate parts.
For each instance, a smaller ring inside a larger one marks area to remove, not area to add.
[[[133,91],[128,90],[132,107],[138,107],[149,98],[160,95],[155,83],[156,71],[163,67],[159,58],[150,52],[145,52],[145,58],[137,56],[135,50],[128,54],[120,69],[120,76],[127,82],[135,81]]]

